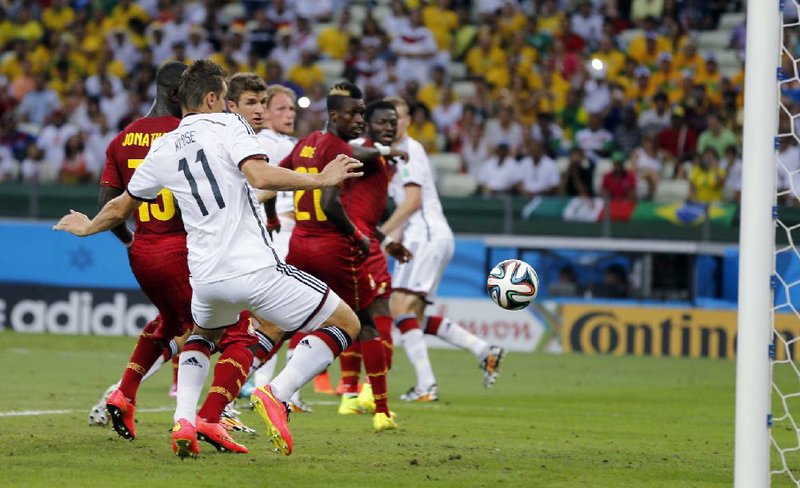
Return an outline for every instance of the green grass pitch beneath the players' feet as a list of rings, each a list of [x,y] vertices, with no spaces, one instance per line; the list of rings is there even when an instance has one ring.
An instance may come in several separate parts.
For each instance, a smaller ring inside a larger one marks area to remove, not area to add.
[[[316,410],[293,415],[292,456],[237,433],[249,454],[201,443],[200,459],[180,461],[167,368],[140,390],[139,408],[160,410],[137,414],[136,441],[86,424],[133,344],[0,332],[0,486],[732,485],[733,361],[511,353],[487,390],[469,353],[433,350],[442,400],[408,405],[395,400],[412,384],[398,349],[389,384],[401,430],[375,434],[369,416],[339,416],[335,397],[306,392]],[[67,413],[8,415],[43,410]],[[251,410],[242,419],[263,432]]]

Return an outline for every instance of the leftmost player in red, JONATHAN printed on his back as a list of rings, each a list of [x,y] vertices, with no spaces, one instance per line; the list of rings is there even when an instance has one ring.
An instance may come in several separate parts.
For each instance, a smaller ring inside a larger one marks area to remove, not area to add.
[[[181,110],[175,94],[180,76],[186,69],[187,66],[179,62],[162,66],[156,74],[157,92],[153,107],[109,144],[100,181],[101,206],[127,187],[153,141],[178,126],[180,119],[176,115]],[[142,203],[134,215],[135,234],[131,234],[124,224],[113,232],[128,247],[131,270],[142,291],[158,309],[159,316],[142,331],[119,388],[106,401],[114,430],[130,440],[136,437],[136,393],[142,379],[166,355],[165,347],[170,340],[193,327],[186,231],[171,193],[162,190],[156,202]],[[258,339],[250,315],[242,313],[238,324],[226,336],[220,341],[222,355],[215,368],[212,387],[198,413],[198,436],[219,450],[247,452],[247,448],[233,441],[219,421],[222,410],[235,398],[253,361],[252,349]],[[173,354],[177,352],[174,347],[173,344],[168,349]]]

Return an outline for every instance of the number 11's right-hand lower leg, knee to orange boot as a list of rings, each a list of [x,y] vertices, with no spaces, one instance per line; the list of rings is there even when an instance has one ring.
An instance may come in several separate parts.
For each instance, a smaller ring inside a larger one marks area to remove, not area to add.
[[[297,347],[286,367],[270,382],[258,388],[251,400],[256,413],[264,420],[270,441],[276,450],[286,456],[292,453],[292,436],[287,425],[286,402],[292,394],[350,346],[361,331],[356,314],[344,302],[322,327],[306,336]]]

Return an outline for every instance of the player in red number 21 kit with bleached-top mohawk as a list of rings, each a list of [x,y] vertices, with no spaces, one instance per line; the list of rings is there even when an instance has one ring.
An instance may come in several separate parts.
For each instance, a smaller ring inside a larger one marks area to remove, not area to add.
[[[361,91],[352,83],[339,83],[331,88],[327,104],[327,131],[314,132],[300,140],[281,166],[302,173],[319,173],[331,156],[353,156],[353,148],[347,141],[359,137],[364,129],[365,107]],[[380,204],[376,204],[373,187],[388,185],[388,173],[377,162],[379,150],[363,148],[355,156],[365,163],[364,176],[358,183],[348,181],[336,188],[295,192],[297,224],[286,262],[328,283],[356,311],[362,326],[359,336],[361,354],[375,397],[373,427],[381,431],[395,429],[397,425],[388,408],[385,350],[369,310],[375,299],[375,282],[364,260],[370,252],[370,235],[377,232],[374,224],[368,228],[372,221],[369,214],[386,202],[384,197]],[[380,239],[383,237],[381,234]],[[408,251],[402,246],[398,245],[391,251],[399,260],[409,258]],[[352,390],[345,392],[340,413],[360,413],[357,393]]]

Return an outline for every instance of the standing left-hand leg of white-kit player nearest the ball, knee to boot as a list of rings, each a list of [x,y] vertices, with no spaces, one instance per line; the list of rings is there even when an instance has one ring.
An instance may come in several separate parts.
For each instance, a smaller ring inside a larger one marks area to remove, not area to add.
[[[420,322],[425,310],[425,301],[419,295],[404,290],[392,291],[390,299],[392,315],[395,325],[400,330],[400,340],[408,355],[408,360],[414,366],[417,374],[417,384],[400,396],[405,401],[436,401],[439,391],[436,387],[436,377],[428,357],[428,346],[420,328]]]

